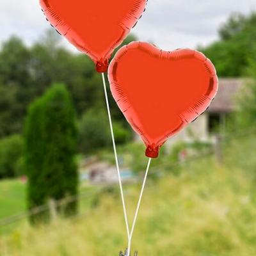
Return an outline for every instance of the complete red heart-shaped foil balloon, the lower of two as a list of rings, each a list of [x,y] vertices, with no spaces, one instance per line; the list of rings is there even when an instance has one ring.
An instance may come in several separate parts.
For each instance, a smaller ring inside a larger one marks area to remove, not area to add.
[[[203,113],[218,90],[211,61],[190,49],[167,52],[133,42],[117,52],[108,73],[113,97],[148,157]]]

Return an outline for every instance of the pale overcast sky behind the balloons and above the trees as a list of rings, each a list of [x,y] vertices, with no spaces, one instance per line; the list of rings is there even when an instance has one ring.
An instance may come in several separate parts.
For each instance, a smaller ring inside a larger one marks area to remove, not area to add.
[[[31,44],[50,27],[38,2],[0,0],[0,43],[15,34]],[[132,32],[165,50],[193,48],[216,40],[230,13],[253,10],[256,0],[148,0],[147,12]]]

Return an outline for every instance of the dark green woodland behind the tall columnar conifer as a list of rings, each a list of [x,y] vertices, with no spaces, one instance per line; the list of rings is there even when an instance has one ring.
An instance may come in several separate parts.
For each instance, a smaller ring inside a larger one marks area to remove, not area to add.
[[[124,44],[135,39],[129,35]],[[79,117],[88,109],[106,108],[101,76],[95,72],[93,61],[68,51],[60,40],[51,29],[31,47],[15,36],[4,42],[0,49],[0,138],[22,132],[29,104],[49,84],[66,84]],[[108,93],[113,118],[127,125]]]

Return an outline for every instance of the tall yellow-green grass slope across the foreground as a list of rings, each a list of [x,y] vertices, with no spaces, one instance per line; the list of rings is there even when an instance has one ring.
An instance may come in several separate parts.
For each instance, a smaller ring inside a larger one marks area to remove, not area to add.
[[[255,140],[229,143],[224,164],[202,158],[148,180],[134,250],[148,256],[256,255]],[[139,190],[125,187],[130,220]],[[76,218],[38,228],[17,226],[1,237],[0,255],[118,255],[127,241],[116,191],[101,195]]]

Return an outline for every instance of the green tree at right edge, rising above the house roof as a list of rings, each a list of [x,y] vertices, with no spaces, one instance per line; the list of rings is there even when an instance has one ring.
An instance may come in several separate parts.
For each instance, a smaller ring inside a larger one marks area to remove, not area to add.
[[[221,77],[244,76],[248,58],[255,54],[256,13],[233,14],[219,30],[220,40],[199,50],[211,59]]]

